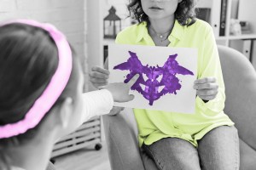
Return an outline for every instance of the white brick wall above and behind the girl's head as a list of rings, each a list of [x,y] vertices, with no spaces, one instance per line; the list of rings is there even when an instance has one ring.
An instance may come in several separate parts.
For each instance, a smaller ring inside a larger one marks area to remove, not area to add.
[[[84,0],[0,0],[0,20],[33,19],[55,25],[67,36],[86,70],[87,17]]]

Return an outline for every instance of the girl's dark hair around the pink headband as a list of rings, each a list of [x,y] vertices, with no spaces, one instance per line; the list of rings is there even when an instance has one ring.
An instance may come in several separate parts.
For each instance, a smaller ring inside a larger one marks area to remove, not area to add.
[[[47,31],[19,23],[0,27],[0,48],[1,126],[19,122],[26,116],[56,71],[58,51]],[[55,105],[63,99],[61,95]],[[40,124],[26,133],[0,139],[0,169],[8,169],[8,166],[1,167],[4,164],[1,161],[8,160],[3,155],[4,148],[33,138]]]

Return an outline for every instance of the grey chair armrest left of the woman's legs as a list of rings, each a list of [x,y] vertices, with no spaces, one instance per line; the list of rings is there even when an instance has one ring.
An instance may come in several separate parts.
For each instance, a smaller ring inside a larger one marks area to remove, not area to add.
[[[116,116],[102,117],[112,169],[143,170],[133,111],[125,109]]]

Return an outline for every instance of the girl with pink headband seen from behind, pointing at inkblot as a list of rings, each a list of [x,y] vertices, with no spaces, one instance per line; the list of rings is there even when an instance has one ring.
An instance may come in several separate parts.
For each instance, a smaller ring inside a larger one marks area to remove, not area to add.
[[[79,59],[54,26],[32,20],[0,24],[0,169],[44,170],[56,140],[113,101],[133,99],[131,84],[82,94]]]

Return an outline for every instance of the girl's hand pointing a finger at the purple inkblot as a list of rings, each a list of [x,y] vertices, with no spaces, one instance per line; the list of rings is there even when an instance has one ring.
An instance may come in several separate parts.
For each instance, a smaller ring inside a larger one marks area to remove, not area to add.
[[[134,99],[134,95],[129,94],[131,86],[137,81],[139,75],[131,78],[130,82],[114,82],[106,86],[99,87],[100,89],[107,89],[113,96],[115,102],[127,102]]]

